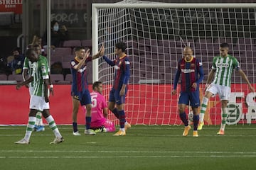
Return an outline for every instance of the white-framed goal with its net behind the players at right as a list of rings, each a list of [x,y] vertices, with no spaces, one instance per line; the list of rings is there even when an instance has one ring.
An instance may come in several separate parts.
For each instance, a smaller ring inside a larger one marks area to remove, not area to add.
[[[183,47],[191,46],[194,56],[203,62],[205,77],[200,85],[201,99],[213,57],[219,55],[222,42],[228,42],[230,55],[238,59],[241,69],[254,85],[255,16],[255,4],[159,4],[145,1],[93,4],[94,52],[100,45],[105,45],[105,54],[114,60],[115,43],[122,41],[127,44],[131,77],[125,112],[130,123],[180,125],[178,94],[172,96],[171,91],[176,64],[183,57]],[[114,68],[102,59],[94,66],[94,79],[103,82],[108,100]],[[231,89],[228,124],[254,123],[255,94],[250,93],[237,72],[233,73]],[[218,96],[210,98],[206,124],[221,123],[220,108]],[[110,119],[117,123],[113,114],[110,114]]]

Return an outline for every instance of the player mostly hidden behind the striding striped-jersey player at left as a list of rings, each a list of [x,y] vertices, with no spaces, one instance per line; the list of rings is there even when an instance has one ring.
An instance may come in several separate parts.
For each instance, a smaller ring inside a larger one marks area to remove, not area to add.
[[[36,53],[38,55],[41,55],[42,52],[41,52],[40,45],[37,45],[37,44],[32,45],[32,48],[36,51]],[[46,62],[48,64],[46,57],[44,57],[44,59],[46,60]],[[23,64],[23,72],[22,72],[23,81],[28,79],[28,77],[31,77],[32,71],[33,71],[33,64],[31,63],[31,61],[28,60],[27,57],[25,57],[25,61]],[[48,65],[48,73],[49,73],[50,93],[53,95],[53,84],[51,84],[51,81],[50,81],[49,65]],[[28,87],[29,95],[31,96],[33,94],[33,81],[29,84],[26,84],[25,86]],[[45,128],[43,126],[42,113],[40,111],[38,111],[38,113],[36,113],[36,123],[35,123],[34,129],[36,130],[36,132],[41,132],[41,131],[45,130]]]

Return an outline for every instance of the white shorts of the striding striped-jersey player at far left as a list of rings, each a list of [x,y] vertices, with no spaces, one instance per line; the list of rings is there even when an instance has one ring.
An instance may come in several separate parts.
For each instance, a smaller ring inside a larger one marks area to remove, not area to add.
[[[29,103],[29,108],[43,111],[45,109],[49,109],[50,106],[49,102],[46,103],[44,97],[32,95]]]

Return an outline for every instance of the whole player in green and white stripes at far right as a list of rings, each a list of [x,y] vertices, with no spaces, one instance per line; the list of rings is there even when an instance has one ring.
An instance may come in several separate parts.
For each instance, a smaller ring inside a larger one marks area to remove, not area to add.
[[[250,84],[250,81],[247,79],[245,73],[240,69],[239,62],[235,57],[228,54],[228,43],[220,44],[220,55],[213,58],[213,66],[208,75],[208,79],[206,81],[206,94],[203,97],[203,103],[200,111],[200,120],[198,125],[198,130],[203,128],[203,117],[206,112],[208,100],[211,96],[218,94],[220,96],[221,101],[221,125],[220,130],[218,131],[218,135],[224,135],[225,131],[225,123],[228,116],[227,105],[228,100],[230,98],[230,81],[231,74],[233,73],[233,69],[237,70],[248,84],[250,91],[255,91],[255,89]],[[214,77],[214,79],[213,79]],[[210,82],[213,82],[210,84]]]

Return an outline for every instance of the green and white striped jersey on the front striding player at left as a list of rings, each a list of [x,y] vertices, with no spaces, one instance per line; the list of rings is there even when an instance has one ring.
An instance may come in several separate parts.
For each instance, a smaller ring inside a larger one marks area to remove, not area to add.
[[[44,79],[49,79],[48,62],[46,57],[39,56],[38,62],[33,63],[33,95],[44,97]]]

